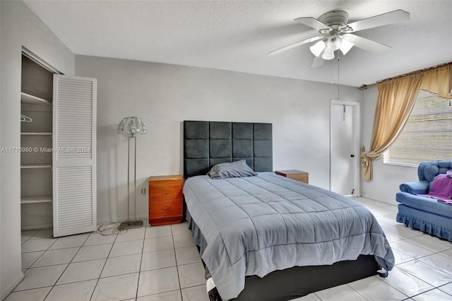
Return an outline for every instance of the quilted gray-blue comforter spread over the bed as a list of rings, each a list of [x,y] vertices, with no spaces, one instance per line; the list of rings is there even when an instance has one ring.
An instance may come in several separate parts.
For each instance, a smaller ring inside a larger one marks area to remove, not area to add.
[[[391,247],[374,216],[334,192],[263,172],[256,177],[191,177],[186,206],[207,247],[202,254],[223,299],[237,297],[245,276],[374,254],[386,271]]]

